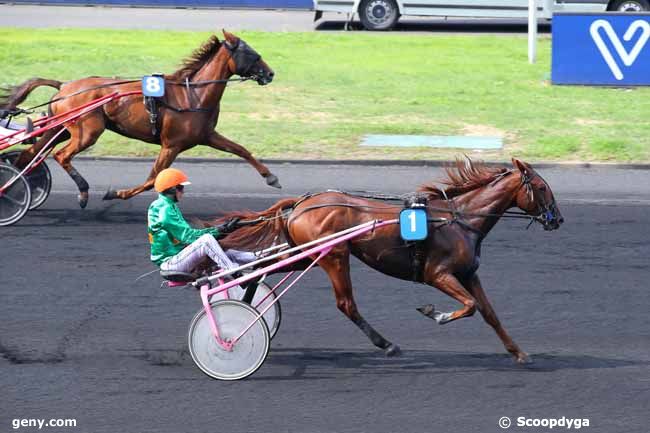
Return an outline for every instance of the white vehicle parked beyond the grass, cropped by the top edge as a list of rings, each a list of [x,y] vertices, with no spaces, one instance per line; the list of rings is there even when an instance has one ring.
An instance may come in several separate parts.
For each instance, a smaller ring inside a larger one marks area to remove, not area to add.
[[[554,12],[643,12],[650,0],[537,0],[539,17],[551,19]],[[339,12],[358,13],[368,30],[389,30],[402,15],[473,18],[526,18],[528,0],[314,0],[316,16]]]

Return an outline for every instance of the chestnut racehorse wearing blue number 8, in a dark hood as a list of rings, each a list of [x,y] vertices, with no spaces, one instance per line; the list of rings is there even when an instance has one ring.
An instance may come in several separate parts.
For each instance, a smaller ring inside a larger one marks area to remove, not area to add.
[[[109,190],[104,196],[105,200],[128,199],[151,189],[156,175],[169,167],[179,153],[199,144],[244,158],[266,178],[267,184],[280,188],[278,178],[266,166],[257,161],[244,147],[214,130],[219,120],[219,102],[226,89],[226,80],[236,74],[265,85],[273,80],[274,75],[273,70],[259,54],[243,40],[225,30],[223,34],[226,38],[224,43],[212,36],[178,71],[165,75],[168,84],[160,106],[157,132],[153,130],[141,95],[110,102],[66,126],[69,134],[62,134],[58,142],[68,138],[70,142],[58,150],[54,158],[77,184],[80,192],[79,204],[82,208],[88,202],[89,186],[72,166],[71,160],[77,153],[92,146],[105,129],[161,146],[145,183],[126,190]],[[141,83],[139,80],[102,77],[82,78],[68,83],[35,78],[16,86],[0,99],[0,108],[16,107],[39,86],[60,88],[54,99],[61,99],[50,104],[51,113],[58,114],[113,92],[140,90]],[[20,155],[16,164],[24,167],[56,132],[57,130],[46,132],[34,146]]]

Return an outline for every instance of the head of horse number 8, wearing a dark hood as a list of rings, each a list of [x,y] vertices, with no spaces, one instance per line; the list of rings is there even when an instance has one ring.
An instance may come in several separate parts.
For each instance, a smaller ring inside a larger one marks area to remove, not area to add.
[[[257,51],[232,33],[223,30],[223,36],[226,38],[224,46],[230,53],[230,72],[242,78],[252,78],[260,86],[273,81],[273,69],[262,60]]]

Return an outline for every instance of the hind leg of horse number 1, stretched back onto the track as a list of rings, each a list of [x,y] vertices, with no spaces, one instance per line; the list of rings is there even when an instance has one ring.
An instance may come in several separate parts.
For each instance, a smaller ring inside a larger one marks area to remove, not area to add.
[[[368,322],[361,316],[357,310],[352,295],[352,281],[350,279],[350,256],[349,253],[337,254],[331,252],[330,255],[323,258],[319,265],[332,281],[334,295],[336,296],[336,306],[343,314],[348,316],[352,322],[368,336],[372,344],[384,349],[386,356],[396,356],[400,354],[399,346],[386,340],[375,331]]]

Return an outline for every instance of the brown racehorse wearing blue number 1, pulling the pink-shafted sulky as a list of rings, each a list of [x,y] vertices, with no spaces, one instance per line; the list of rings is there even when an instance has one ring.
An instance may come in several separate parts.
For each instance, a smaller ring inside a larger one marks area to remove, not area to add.
[[[476,273],[481,242],[512,207],[534,217],[546,230],[559,228],[564,219],[546,181],[530,165],[515,159],[513,164],[514,169],[506,169],[488,168],[469,159],[464,163],[458,161],[455,170],[447,170],[448,179],[443,181],[446,188],[433,184],[420,187],[420,194],[428,199],[429,218],[447,219],[429,223],[429,236],[421,247],[420,269],[415,269],[415,247],[401,240],[397,225],[376,229],[339,245],[319,262],[332,282],[339,310],[387,355],[398,354],[399,347],[375,331],[357,310],[350,280],[350,254],[384,274],[416,279],[460,302],[462,307],[453,312],[437,311],[433,305],[418,308],[441,325],[469,317],[478,309],[516,361],[529,361],[499,322]],[[401,209],[386,202],[326,192],[285,199],[260,213],[232,213],[215,223],[232,217],[263,219],[262,223],[241,227],[222,240],[226,248],[257,249],[285,241],[300,245],[363,222],[394,219]],[[416,275],[419,277],[414,278]]]

